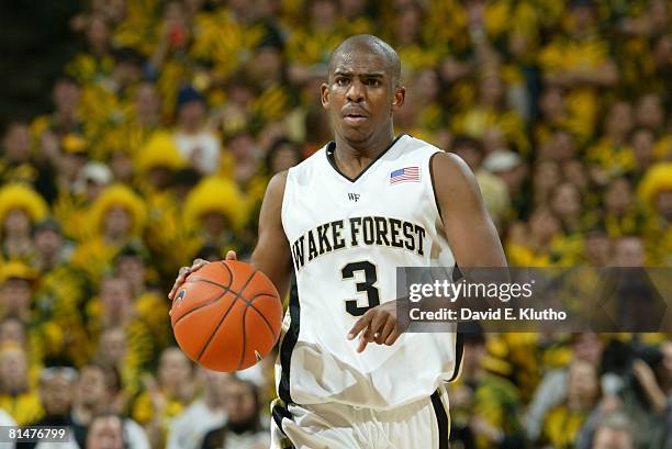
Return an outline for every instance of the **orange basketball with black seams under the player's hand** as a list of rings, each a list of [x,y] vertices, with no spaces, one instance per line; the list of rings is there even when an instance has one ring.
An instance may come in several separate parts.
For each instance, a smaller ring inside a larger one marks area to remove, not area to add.
[[[266,357],[281,323],[282,302],[273,283],[236,260],[210,262],[189,274],[170,310],[182,351],[214,371],[244,370]]]

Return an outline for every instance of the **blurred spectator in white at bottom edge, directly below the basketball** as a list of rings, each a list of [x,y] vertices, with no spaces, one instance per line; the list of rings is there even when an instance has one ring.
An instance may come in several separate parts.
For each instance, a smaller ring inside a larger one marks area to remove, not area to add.
[[[204,378],[203,395],[176,416],[168,433],[167,449],[200,449],[203,438],[226,422],[229,374],[199,369]]]

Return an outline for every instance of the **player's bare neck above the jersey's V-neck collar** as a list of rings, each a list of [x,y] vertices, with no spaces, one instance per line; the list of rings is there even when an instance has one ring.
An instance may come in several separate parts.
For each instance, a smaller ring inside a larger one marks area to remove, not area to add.
[[[336,165],[347,176],[356,177],[373,159],[380,156],[394,143],[394,132],[390,130],[384,135],[374,136],[365,142],[350,142],[336,135],[334,159]]]

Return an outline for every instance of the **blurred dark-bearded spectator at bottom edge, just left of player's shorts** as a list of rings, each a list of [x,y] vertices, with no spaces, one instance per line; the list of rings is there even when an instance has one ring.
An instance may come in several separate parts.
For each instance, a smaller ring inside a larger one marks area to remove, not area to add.
[[[209,431],[201,449],[262,449],[270,445],[268,431],[261,427],[259,392],[254,383],[229,378],[224,389],[224,403],[226,424]]]

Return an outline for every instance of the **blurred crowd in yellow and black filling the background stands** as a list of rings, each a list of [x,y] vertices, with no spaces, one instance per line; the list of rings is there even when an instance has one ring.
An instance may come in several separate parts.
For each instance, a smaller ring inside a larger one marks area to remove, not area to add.
[[[2,424],[267,447],[272,357],[195,367],[166,292],[249,255],[270,177],[333,138],[318,89],[352,34],[399,52],[396,132],[468,162],[509,265],[672,265],[669,0],[91,0],[70,25],[53,109],[2,131]],[[672,448],[670,334],[464,339],[453,448]]]

